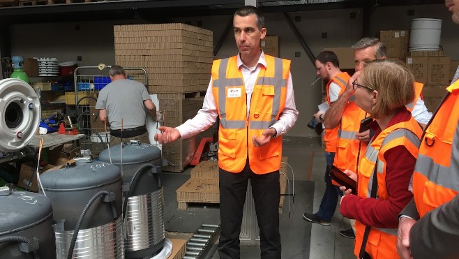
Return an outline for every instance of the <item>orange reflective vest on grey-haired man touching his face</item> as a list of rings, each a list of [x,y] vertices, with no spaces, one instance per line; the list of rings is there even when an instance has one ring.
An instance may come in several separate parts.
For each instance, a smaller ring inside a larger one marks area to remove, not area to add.
[[[364,112],[354,103],[355,96],[349,98],[338,126],[336,138],[336,153],[333,165],[341,171],[346,169],[357,172],[357,156],[359,156],[359,143],[356,133],[359,133],[360,121],[365,118]],[[366,144],[361,143],[361,151],[365,151]]]

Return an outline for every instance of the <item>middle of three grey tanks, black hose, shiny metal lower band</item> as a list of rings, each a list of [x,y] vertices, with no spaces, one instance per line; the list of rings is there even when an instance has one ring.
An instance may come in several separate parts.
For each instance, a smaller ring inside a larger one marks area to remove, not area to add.
[[[40,179],[54,207],[56,258],[124,258],[119,168],[79,161]]]

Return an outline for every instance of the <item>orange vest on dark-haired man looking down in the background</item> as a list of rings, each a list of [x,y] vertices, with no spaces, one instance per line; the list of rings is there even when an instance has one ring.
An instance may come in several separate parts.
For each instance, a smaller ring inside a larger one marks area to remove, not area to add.
[[[347,80],[349,80],[351,76],[347,72],[341,72],[335,77],[331,78],[328,84],[326,84],[326,96],[325,101],[331,105],[330,103],[330,96],[329,96],[329,87],[332,82],[335,82],[340,86],[340,93],[338,96],[343,94],[343,91],[346,89]],[[336,152],[336,138],[338,138],[338,128],[325,128],[324,134],[324,142],[325,142],[325,151],[326,152]]]

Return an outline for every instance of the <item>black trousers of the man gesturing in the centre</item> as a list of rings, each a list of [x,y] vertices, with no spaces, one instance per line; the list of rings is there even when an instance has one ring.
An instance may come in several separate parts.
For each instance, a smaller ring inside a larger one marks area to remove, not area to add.
[[[248,179],[257,213],[262,259],[280,259],[279,234],[279,171],[257,175],[246,163],[242,172],[220,168],[220,222],[218,253],[221,259],[240,258],[239,234],[246,202]]]

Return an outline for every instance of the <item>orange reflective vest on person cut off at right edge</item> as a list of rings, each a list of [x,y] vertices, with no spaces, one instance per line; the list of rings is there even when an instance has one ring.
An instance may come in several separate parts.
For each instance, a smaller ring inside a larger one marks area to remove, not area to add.
[[[419,216],[449,202],[459,192],[459,80],[426,128],[413,175]]]

